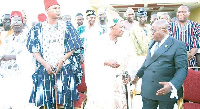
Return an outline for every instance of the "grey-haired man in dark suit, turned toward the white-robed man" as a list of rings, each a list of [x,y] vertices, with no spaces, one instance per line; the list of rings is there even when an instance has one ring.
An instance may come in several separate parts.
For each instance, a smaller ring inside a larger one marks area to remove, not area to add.
[[[188,71],[186,45],[168,34],[168,25],[164,19],[153,23],[146,60],[132,81],[142,78],[143,109],[157,109],[158,105],[159,109],[173,109],[182,97]]]

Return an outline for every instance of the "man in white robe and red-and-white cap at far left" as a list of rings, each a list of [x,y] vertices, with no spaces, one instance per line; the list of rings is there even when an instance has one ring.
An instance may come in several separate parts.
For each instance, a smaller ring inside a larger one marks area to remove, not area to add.
[[[10,15],[13,34],[0,47],[0,109],[30,109],[32,55],[26,48],[27,34],[23,32],[22,14],[12,11]],[[33,64],[32,64],[33,65]]]

